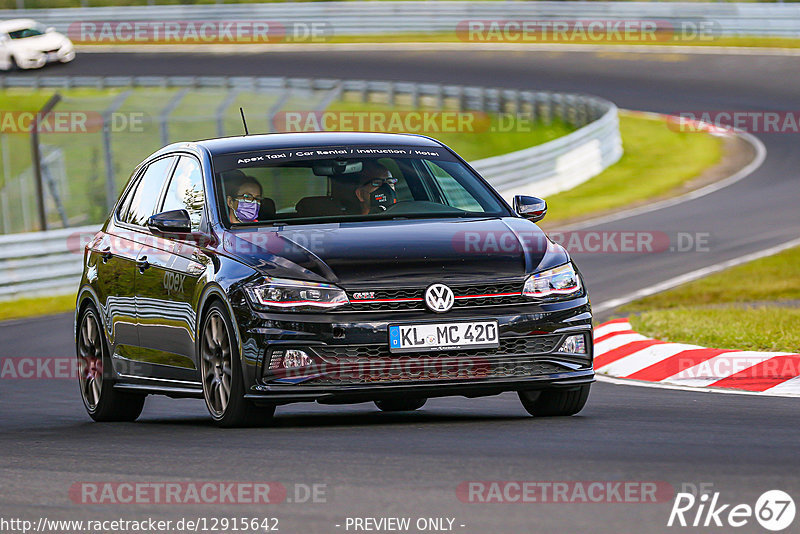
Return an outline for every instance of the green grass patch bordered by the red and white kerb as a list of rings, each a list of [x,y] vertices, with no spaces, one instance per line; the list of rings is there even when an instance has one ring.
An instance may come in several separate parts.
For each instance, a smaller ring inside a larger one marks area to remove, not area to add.
[[[618,312],[633,314],[635,330],[664,341],[798,352],[798,300],[800,247],[646,297]]]

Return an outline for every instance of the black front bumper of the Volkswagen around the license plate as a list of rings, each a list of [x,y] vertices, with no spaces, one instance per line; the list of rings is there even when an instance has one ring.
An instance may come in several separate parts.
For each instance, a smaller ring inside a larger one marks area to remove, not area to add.
[[[277,314],[235,307],[243,347],[247,398],[282,404],[349,403],[395,396],[468,397],[594,380],[592,317],[585,296],[573,300],[480,309],[444,315],[414,311]],[[393,354],[390,324],[496,319],[497,349]],[[557,352],[567,335],[583,334],[586,354]],[[273,355],[304,350],[314,360],[300,369],[275,369]],[[272,365],[271,365],[272,363]]]

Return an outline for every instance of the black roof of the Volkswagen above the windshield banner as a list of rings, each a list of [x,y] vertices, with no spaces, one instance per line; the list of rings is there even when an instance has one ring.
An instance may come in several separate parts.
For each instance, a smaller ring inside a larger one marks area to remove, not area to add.
[[[443,145],[429,137],[411,134],[368,133],[368,132],[302,132],[260,135],[241,135],[206,139],[194,143],[208,150],[211,155],[235,154],[255,150],[281,148],[311,148],[325,146],[420,146],[437,147]]]

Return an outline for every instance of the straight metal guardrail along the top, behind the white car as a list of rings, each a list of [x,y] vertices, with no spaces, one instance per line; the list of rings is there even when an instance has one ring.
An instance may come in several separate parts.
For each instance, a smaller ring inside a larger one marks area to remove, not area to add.
[[[715,35],[800,35],[794,3],[696,2],[291,2],[0,10],[59,31],[83,21],[272,21],[323,23],[334,35],[455,31],[465,20],[652,20],[705,24]]]

